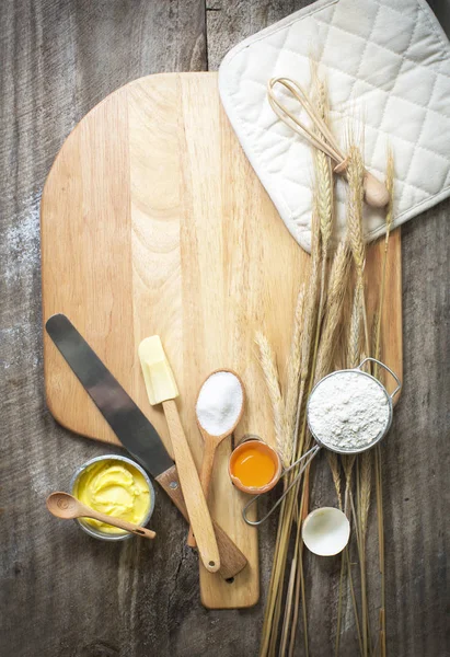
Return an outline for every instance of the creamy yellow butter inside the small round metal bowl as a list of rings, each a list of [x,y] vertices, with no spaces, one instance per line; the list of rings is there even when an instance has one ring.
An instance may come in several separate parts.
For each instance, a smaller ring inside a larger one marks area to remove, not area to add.
[[[97,461],[81,474],[74,496],[96,511],[140,525],[151,504],[142,473],[125,461]],[[105,533],[126,533],[117,527],[85,518],[86,523]]]

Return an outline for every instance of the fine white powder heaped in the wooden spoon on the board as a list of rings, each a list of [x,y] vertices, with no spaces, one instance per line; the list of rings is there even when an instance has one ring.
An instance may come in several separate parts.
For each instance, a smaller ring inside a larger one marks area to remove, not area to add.
[[[216,372],[203,384],[197,400],[197,417],[211,436],[229,431],[241,413],[244,393],[232,372]]]

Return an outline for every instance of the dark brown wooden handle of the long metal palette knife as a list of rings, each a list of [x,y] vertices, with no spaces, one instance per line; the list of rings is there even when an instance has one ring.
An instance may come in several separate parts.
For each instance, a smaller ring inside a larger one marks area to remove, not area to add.
[[[186,503],[184,502],[176,465],[173,465],[157,476],[157,482],[164,488],[165,493],[188,522],[189,517],[187,515]],[[244,554],[242,554],[239,548],[234,545],[230,537],[226,534],[223,529],[215,520],[212,520],[212,525],[220,554],[219,573],[223,579],[235,577],[238,573],[246,566],[247,561]]]

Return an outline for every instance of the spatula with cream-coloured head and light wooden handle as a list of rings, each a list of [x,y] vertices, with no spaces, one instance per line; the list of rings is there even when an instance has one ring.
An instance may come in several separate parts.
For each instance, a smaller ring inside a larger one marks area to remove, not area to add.
[[[200,558],[207,570],[216,573],[220,568],[216,534],[194,458],[176,407],[175,399],[180,394],[178,389],[158,335],[147,337],[140,343],[139,358],[150,404],[154,406],[162,403],[164,410],[180,483],[191,526],[195,531]]]

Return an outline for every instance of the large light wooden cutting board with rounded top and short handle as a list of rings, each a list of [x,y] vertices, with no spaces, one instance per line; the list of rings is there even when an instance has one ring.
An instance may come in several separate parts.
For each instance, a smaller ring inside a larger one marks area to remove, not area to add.
[[[207,374],[238,371],[247,394],[236,440],[274,442],[270,406],[256,362],[262,330],[281,379],[299,286],[309,256],[278,217],[228,123],[216,73],[149,76],[119,89],[71,132],[42,200],[44,322],[66,313],[154,424],[169,451],[160,410],[150,406],[138,345],[162,338],[181,391],[180,410],[197,464],[201,438],[195,400]],[[383,357],[402,373],[400,231],[391,239]],[[368,256],[370,308],[382,245]],[[48,406],[83,436],[117,439],[44,332]],[[226,583],[200,567],[209,608],[255,604],[257,530],[241,517],[244,497],[230,484],[230,441],[219,448],[211,514],[249,558]],[[155,528],[158,530],[158,528]],[[187,527],[186,527],[187,530]]]

